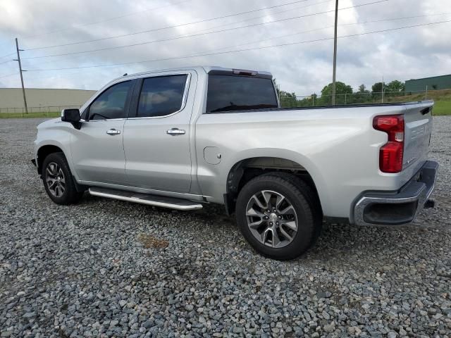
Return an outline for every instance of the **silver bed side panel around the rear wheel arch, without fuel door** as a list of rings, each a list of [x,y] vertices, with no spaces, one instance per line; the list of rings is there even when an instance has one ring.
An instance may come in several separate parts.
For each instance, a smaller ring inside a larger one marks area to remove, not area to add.
[[[311,175],[324,215],[348,218],[360,193],[401,187],[404,173],[379,170],[379,148],[387,135],[373,130],[372,121],[376,115],[400,114],[404,109],[375,106],[201,115],[196,124],[199,187],[207,199],[223,203],[235,163],[253,157],[285,158]],[[218,149],[220,163],[206,163],[206,146]]]

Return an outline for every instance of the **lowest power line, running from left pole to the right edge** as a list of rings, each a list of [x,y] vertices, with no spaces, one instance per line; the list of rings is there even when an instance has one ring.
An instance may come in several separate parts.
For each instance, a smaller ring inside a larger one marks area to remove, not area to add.
[[[404,30],[404,29],[408,29],[408,28],[414,28],[414,27],[423,27],[423,26],[428,26],[428,25],[438,25],[440,23],[451,23],[451,20],[444,20],[444,21],[438,21],[435,23],[424,23],[424,24],[419,24],[419,25],[409,25],[409,26],[403,26],[403,27],[395,27],[395,28],[389,28],[386,30],[374,30],[371,32],[364,32],[364,33],[356,33],[356,34],[352,34],[352,35],[342,35],[340,37],[337,37],[338,39],[342,39],[345,37],[357,37],[357,36],[361,36],[361,35],[370,35],[370,34],[375,34],[375,33],[382,33],[382,32],[392,32],[392,31],[396,31],[396,30]],[[307,40],[307,41],[301,41],[301,42],[288,42],[285,44],[274,44],[271,46],[259,46],[259,47],[253,47],[253,48],[248,48],[248,49],[236,49],[234,51],[219,51],[219,52],[214,52],[214,53],[206,53],[206,54],[194,54],[194,55],[189,55],[189,56],[176,56],[176,57],[172,57],[172,58],[156,58],[153,60],[145,60],[145,61],[134,61],[134,62],[126,62],[126,63],[110,63],[110,64],[106,64],[106,65],[84,65],[84,66],[80,66],[80,67],[67,67],[67,68],[47,68],[47,69],[32,69],[32,70],[28,70],[29,72],[41,72],[41,71],[50,71],[50,70],[69,70],[69,69],[82,69],[82,68],[98,68],[98,67],[111,67],[111,66],[115,66],[115,65],[131,65],[131,64],[135,64],[135,63],[149,63],[149,62],[156,62],[156,61],[169,61],[169,60],[178,60],[178,59],[182,59],[182,58],[196,58],[199,56],[211,56],[211,55],[219,55],[219,54],[229,54],[229,53],[237,53],[240,51],[254,51],[254,50],[258,50],[258,49],[268,49],[268,48],[274,48],[274,47],[280,47],[280,46],[292,46],[292,45],[296,45],[296,44],[307,44],[307,43],[311,43],[311,42],[321,42],[321,41],[328,41],[334,39],[333,37],[325,37],[322,39],[312,39],[312,40]]]

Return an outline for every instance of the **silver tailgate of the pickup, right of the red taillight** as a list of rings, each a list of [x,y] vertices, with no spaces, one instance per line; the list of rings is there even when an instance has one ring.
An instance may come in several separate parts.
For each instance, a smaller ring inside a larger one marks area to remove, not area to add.
[[[432,132],[433,101],[407,104],[404,112],[403,170],[422,165],[428,158]]]

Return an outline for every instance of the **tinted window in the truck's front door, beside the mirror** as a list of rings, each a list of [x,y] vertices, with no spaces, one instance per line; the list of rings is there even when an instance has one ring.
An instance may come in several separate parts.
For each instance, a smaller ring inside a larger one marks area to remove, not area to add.
[[[106,89],[89,106],[89,120],[125,118],[125,104],[132,82],[125,81]]]

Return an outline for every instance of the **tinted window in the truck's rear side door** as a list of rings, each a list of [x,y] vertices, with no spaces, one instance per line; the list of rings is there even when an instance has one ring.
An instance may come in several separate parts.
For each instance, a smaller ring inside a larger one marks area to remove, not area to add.
[[[138,118],[166,116],[180,111],[187,75],[149,77],[142,82]]]

